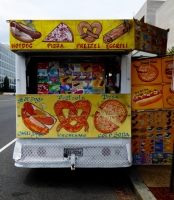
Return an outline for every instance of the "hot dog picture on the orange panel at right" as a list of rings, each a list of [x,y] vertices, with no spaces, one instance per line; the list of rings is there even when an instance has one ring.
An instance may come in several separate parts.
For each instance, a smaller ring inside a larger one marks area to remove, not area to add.
[[[144,94],[138,94],[133,97],[133,101],[136,102],[138,106],[146,106],[159,101],[162,98],[161,90],[146,91]]]

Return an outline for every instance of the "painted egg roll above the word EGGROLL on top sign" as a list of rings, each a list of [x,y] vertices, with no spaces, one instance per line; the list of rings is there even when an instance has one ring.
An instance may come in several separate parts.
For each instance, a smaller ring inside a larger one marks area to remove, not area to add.
[[[113,42],[117,38],[121,37],[125,33],[127,33],[132,28],[131,24],[124,21],[124,23],[118,25],[117,27],[110,30],[103,36],[103,41],[107,44]]]

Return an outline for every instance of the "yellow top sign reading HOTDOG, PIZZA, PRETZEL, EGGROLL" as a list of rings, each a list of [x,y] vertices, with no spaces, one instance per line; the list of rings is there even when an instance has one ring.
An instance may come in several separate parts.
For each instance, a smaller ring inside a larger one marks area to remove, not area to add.
[[[134,49],[133,20],[10,21],[11,50]]]

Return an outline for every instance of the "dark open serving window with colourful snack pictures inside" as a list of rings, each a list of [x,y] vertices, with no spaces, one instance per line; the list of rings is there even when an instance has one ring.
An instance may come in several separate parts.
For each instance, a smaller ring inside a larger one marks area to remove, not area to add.
[[[31,58],[28,94],[120,93],[120,57]]]

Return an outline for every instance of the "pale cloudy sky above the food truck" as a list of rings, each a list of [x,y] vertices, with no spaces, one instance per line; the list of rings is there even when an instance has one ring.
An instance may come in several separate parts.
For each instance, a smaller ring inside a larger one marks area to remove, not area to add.
[[[133,19],[146,0],[0,0],[0,43],[9,44],[6,20]]]

